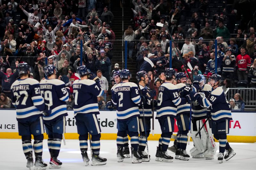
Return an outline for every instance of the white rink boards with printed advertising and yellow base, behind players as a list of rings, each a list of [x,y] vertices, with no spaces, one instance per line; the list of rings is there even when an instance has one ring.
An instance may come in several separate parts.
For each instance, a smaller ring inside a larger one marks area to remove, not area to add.
[[[154,114],[156,116],[156,112]],[[100,111],[97,115],[100,121],[101,139],[116,139],[116,111]],[[233,120],[230,121],[230,130],[228,134],[229,142],[256,142],[256,113],[252,112],[232,112]],[[158,121],[154,120],[154,136],[151,134],[149,140],[158,140],[161,129]],[[68,111],[66,117],[66,139],[78,139],[74,112]],[[151,121],[152,123],[152,121]],[[152,127],[152,126],[151,126]],[[152,128],[151,128],[152,129]],[[175,122],[174,132],[177,133],[178,127]],[[45,138],[47,135],[44,134]],[[16,120],[15,109],[0,109],[0,138],[21,138],[18,135],[18,123]]]

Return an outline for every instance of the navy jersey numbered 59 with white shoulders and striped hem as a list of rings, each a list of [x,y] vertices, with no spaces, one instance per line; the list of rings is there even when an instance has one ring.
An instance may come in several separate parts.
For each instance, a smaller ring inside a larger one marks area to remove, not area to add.
[[[44,79],[40,82],[41,94],[45,105],[51,108],[52,113],[43,116],[44,121],[54,121],[60,116],[67,116],[67,104],[69,92],[65,88],[65,83],[59,79]]]

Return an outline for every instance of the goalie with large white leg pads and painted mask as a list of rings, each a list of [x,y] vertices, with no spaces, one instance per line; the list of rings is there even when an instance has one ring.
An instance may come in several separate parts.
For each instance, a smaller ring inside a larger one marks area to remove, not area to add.
[[[206,79],[202,74],[196,75],[193,80],[193,91],[199,92],[201,96],[208,98],[212,91],[212,86],[205,84],[205,82]],[[193,101],[191,138],[195,147],[190,149],[192,158],[213,159],[216,153],[216,146],[210,129],[210,120],[206,122],[206,126],[200,131],[200,135],[196,136],[199,130],[197,127],[201,126],[207,118],[206,113],[207,108],[202,107],[197,100]]]

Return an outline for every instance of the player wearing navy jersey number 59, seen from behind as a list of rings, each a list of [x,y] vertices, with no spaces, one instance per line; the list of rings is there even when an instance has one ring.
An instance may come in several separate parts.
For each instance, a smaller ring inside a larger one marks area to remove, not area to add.
[[[48,135],[48,149],[51,155],[50,168],[60,168],[62,162],[57,159],[60,153],[62,134],[65,133],[69,90],[63,81],[56,79],[55,66],[44,67],[46,79],[40,82],[40,91],[49,111],[44,113],[44,126]]]

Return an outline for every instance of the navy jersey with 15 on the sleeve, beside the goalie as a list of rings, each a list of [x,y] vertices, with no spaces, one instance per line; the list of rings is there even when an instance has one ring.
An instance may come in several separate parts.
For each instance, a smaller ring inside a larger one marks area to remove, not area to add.
[[[187,90],[187,93],[188,93],[188,86],[185,85],[184,83],[179,83],[176,85],[176,87],[178,88],[178,92],[182,92],[182,91],[186,91]],[[180,97],[185,97],[184,95],[187,95],[185,94],[185,92],[183,93],[183,96],[180,95]],[[188,103],[180,103],[180,105],[177,106],[177,115],[180,115],[180,114],[190,114],[190,104]]]

